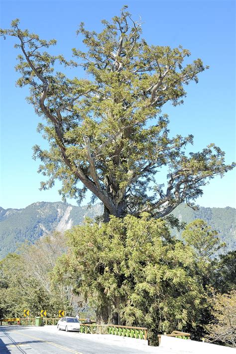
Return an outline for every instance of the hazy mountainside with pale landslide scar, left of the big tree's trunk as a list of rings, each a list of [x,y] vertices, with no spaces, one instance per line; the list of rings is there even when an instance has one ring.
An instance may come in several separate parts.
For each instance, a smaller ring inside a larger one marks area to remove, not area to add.
[[[81,224],[84,217],[101,213],[101,204],[88,208],[63,202],[37,202],[24,209],[0,208],[0,258],[14,252],[24,240],[33,243],[50,231],[70,229]]]

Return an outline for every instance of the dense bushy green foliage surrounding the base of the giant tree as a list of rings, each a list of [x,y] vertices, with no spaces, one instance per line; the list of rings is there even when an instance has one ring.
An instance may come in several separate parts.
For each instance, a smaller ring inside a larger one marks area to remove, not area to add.
[[[198,324],[204,290],[193,252],[170,239],[164,221],[146,213],[101,225],[87,220],[67,237],[69,252],[54,268],[55,279],[69,279],[95,307],[108,306],[100,321],[145,325],[152,343],[159,332]]]

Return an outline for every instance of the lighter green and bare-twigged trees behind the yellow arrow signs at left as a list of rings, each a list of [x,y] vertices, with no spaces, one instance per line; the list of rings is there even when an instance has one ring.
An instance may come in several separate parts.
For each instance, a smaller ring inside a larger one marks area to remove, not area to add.
[[[47,310],[48,317],[58,317],[58,310],[68,314],[73,309],[75,297],[70,286],[55,284],[51,271],[56,259],[65,249],[62,235],[54,233],[37,241],[33,246],[24,244],[20,255],[8,254],[0,261],[0,317],[23,317],[23,310],[30,310],[30,317]]]

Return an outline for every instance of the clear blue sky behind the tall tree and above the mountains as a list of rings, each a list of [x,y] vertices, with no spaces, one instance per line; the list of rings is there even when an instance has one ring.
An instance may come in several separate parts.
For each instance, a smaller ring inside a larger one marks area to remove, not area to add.
[[[170,134],[194,135],[192,151],[214,142],[226,152],[226,162],[235,160],[235,1],[1,1],[2,28],[19,18],[28,28],[45,39],[55,38],[55,53],[71,55],[80,46],[76,29],[81,21],[88,29],[99,31],[100,20],[119,13],[123,4],[134,18],[142,18],[143,37],[149,44],[181,44],[191,51],[191,60],[200,57],[210,69],[199,76],[199,83],[187,87],[183,105],[163,107],[170,117]],[[14,40],[0,40],[1,79],[1,190],[0,206],[23,208],[36,201],[58,201],[53,189],[39,191],[43,176],[37,174],[38,161],[32,160],[32,146],[46,146],[36,132],[38,117],[25,101],[27,88],[15,87],[17,50]],[[80,73],[77,74],[79,76]],[[81,75],[84,75],[81,73]],[[236,173],[217,177],[204,187],[201,206],[236,207]],[[159,181],[162,182],[161,180]],[[69,200],[76,204],[75,200]]]

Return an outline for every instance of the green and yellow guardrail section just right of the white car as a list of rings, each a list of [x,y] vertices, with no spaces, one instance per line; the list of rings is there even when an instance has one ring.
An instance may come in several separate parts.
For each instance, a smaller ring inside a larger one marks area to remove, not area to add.
[[[80,325],[81,333],[89,334],[113,334],[122,337],[130,337],[147,340],[146,327],[132,327],[119,325],[96,325],[96,324],[82,324]]]

